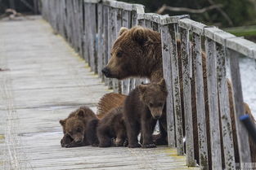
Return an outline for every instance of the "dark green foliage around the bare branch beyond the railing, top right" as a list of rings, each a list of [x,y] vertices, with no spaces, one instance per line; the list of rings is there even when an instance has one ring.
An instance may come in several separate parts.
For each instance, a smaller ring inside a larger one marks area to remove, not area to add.
[[[146,7],[146,12],[155,12],[166,4],[170,7],[187,7],[191,9],[201,9],[211,6],[211,0],[122,0],[123,2],[140,3]],[[221,27],[240,26],[245,24],[255,24],[255,6],[252,0],[212,0],[214,4],[222,4],[224,11],[230,18],[233,25],[217,9],[204,12],[202,14],[191,14],[187,12],[164,11],[164,14],[182,15],[189,14],[191,19],[205,24],[214,24]],[[254,1],[256,3],[256,1]]]

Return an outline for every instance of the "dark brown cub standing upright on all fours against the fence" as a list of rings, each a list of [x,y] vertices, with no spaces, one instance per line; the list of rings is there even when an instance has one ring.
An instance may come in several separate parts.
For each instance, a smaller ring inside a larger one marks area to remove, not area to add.
[[[137,136],[141,132],[143,148],[155,147],[152,133],[156,120],[165,119],[164,106],[167,98],[164,79],[138,85],[124,101],[124,121],[128,134],[128,147],[140,147]]]

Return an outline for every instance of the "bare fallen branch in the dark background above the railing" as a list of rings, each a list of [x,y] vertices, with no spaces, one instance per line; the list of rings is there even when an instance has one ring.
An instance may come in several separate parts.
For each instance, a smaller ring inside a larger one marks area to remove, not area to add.
[[[201,14],[201,13],[204,13],[205,11],[209,11],[209,10],[213,10],[221,7],[223,7],[222,4],[216,4],[216,5],[204,7],[202,9],[197,10],[197,9],[191,9],[186,7],[169,7],[164,4],[162,7],[159,8],[158,11],[156,11],[156,13],[162,14],[165,10],[168,10],[168,11],[185,11],[185,12],[194,13],[194,14]]]

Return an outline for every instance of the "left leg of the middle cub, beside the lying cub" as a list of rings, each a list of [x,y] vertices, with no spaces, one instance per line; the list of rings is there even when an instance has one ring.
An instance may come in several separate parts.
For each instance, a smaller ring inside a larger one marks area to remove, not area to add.
[[[99,139],[100,147],[110,147],[111,146],[111,137],[108,136],[108,130],[106,127],[99,127],[97,129],[97,136]]]

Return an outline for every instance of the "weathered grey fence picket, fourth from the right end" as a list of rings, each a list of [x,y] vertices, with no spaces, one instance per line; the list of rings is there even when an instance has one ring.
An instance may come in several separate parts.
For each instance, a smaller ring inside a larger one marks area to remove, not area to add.
[[[209,168],[208,147],[207,147],[207,129],[204,107],[204,76],[201,53],[201,36],[193,33],[192,35],[192,59],[195,66],[195,98],[196,98],[196,119],[198,129],[198,144],[200,167]],[[197,150],[197,148],[195,148]]]

